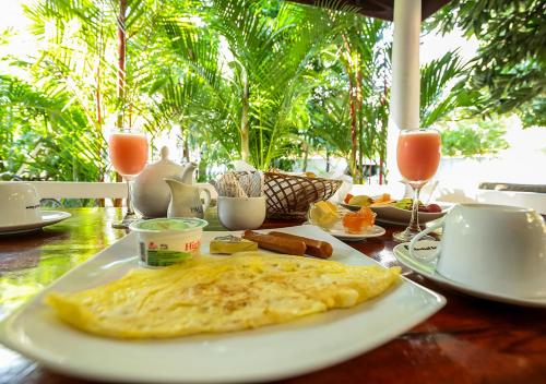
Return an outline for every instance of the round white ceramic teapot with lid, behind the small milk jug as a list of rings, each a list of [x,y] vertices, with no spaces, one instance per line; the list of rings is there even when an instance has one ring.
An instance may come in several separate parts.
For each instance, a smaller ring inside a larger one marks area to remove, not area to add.
[[[170,189],[165,178],[177,178],[193,183],[194,163],[183,166],[168,159],[169,151],[162,148],[161,160],[149,164],[136,177],[132,188],[133,206],[144,217],[166,217],[170,202]]]

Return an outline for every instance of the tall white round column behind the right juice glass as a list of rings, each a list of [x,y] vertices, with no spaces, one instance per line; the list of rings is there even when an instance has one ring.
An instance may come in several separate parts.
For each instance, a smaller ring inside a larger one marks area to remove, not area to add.
[[[420,0],[394,0],[392,84],[387,140],[388,180],[401,179],[396,167],[399,130],[419,128]]]

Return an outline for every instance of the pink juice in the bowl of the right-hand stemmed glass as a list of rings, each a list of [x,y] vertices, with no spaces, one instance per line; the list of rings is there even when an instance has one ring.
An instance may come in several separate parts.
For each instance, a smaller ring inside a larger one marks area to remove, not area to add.
[[[437,131],[403,131],[396,149],[400,173],[410,182],[424,183],[440,164],[440,134]]]

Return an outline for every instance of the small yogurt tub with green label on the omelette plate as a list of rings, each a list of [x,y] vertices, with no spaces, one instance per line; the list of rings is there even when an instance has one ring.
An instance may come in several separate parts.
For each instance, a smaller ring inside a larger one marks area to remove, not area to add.
[[[198,256],[207,225],[200,218],[170,217],[135,221],[129,228],[136,232],[142,265],[161,267]]]

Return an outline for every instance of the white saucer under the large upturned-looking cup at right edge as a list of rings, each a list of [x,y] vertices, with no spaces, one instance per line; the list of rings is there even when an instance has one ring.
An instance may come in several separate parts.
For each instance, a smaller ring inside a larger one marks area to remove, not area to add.
[[[467,293],[471,296],[475,296],[477,298],[507,302],[510,304],[523,305],[523,307],[537,307],[537,308],[546,308],[546,297],[536,297],[536,298],[522,298],[522,297],[512,297],[506,296],[495,292],[488,292],[482,290],[479,288],[471,287],[464,285],[463,283],[459,283],[447,278],[436,272],[436,260],[434,261],[418,261],[410,256],[410,251],[407,247],[408,242],[399,244],[394,247],[393,253],[396,257],[396,261],[404,265],[405,267],[412,269],[413,272],[418,273],[419,275],[425,276],[438,284],[450,287],[452,289],[459,290],[463,293]]]

